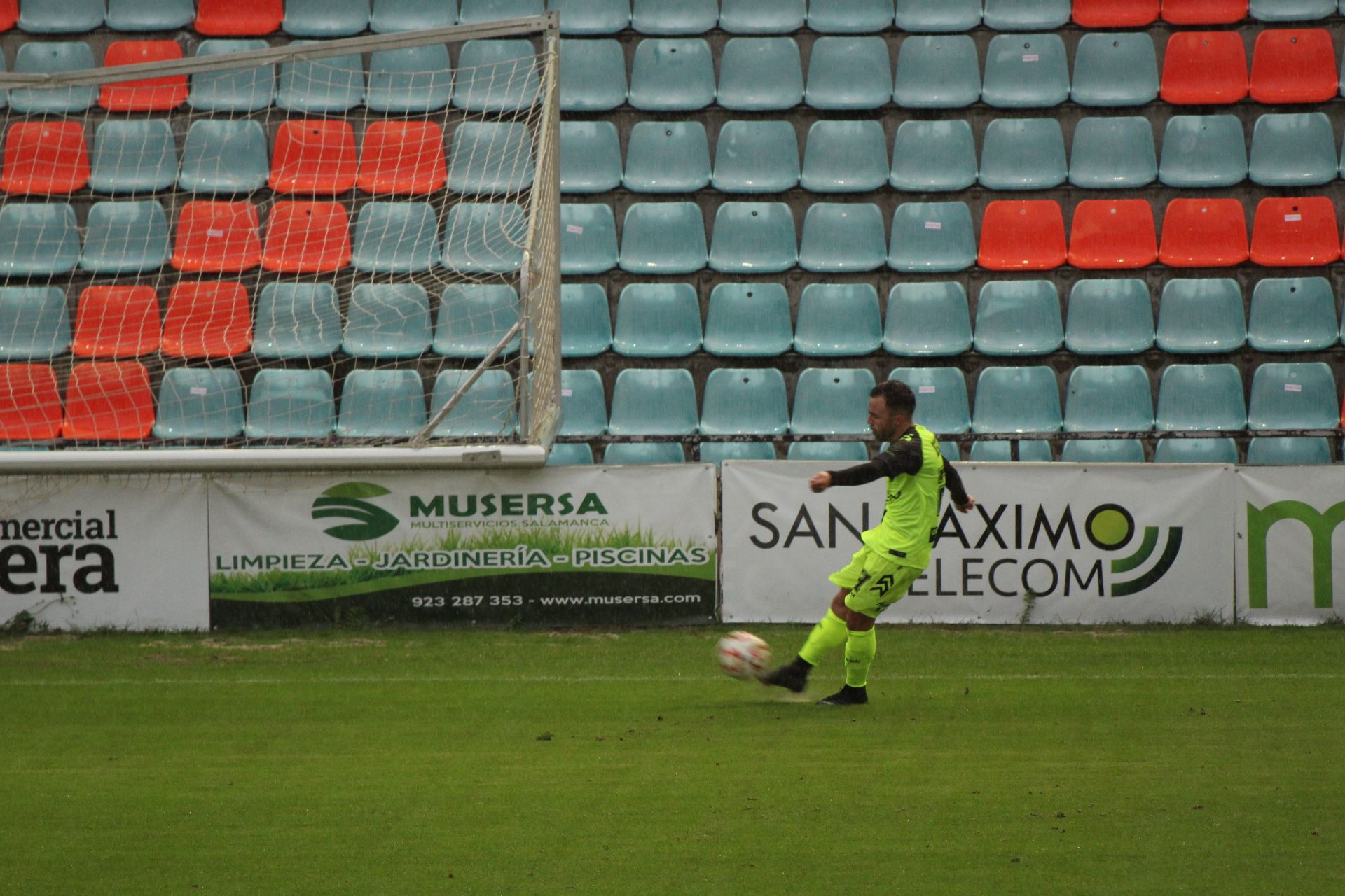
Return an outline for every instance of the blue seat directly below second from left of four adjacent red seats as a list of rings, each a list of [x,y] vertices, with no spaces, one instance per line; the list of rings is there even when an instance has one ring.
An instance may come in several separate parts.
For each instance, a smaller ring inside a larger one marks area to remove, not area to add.
[[[1069,290],[1067,349],[1075,355],[1137,355],[1153,347],[1154,309],[1145,281],[1081,279]]]

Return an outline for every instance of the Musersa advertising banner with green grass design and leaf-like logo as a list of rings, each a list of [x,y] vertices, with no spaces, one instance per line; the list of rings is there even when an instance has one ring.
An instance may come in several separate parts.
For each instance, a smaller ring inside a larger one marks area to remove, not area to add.
[[[215,623],[709,622],[714,467],[217,477]]]

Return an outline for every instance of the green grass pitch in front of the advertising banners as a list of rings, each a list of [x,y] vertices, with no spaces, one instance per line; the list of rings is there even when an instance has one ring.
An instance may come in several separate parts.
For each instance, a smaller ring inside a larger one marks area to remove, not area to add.
[[[1340,626],[724,630],[0,638],[0,891],[1345,893]]]

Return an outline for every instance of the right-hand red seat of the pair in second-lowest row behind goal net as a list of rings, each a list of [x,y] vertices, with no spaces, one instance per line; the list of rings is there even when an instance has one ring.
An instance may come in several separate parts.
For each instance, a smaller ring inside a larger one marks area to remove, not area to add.
[[[252,310],[242,283],[184,281],[168,294],[164,355],[233,357],[252,347]]]

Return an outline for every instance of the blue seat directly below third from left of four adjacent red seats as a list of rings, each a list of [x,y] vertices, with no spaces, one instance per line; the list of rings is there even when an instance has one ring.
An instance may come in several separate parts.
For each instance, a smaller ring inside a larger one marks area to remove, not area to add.
[[[1158,302],[1158,348],[1177,355],[1232,352],[1247,341],[1235,279],[1170,279]]]

